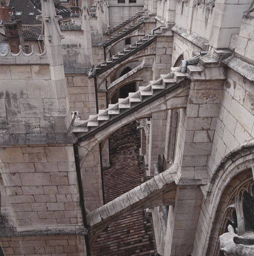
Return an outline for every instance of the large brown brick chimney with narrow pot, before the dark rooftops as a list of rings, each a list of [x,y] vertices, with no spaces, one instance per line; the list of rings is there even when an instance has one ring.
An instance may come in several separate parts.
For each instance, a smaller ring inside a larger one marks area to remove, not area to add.
[[[18,53],[19,45],[21,44],[20,37],[22,37],[22,26],[21,20],[16,19],[14,7],[12,7],[11,11],[9,12],[8,21],[4,22],[3,25],[5,35],[7,36],[5,40],[8,41],[10,51],[12,53]]]

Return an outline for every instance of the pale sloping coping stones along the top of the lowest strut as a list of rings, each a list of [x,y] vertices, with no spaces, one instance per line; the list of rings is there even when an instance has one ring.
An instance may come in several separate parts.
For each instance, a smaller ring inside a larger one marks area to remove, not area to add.
[[[176,186],[174,176],[176,175],[177,169],[178,165],[173,164],[169,169],[164,170],[128,192],[123,193],[112,201],[86,214],[87,224],[89,226],[93,226],[102,220],[106,221],[108,218],[114,217],[114,215],[117,213],[125,213],[126,211],[128,212],[131,210],[135,211],[136,208],[141,208],[141,206],[144,205],[147,200],[151,199],[153,194],[158,191],[165,192],[165,186]],[[170,188],[167,190],[167,192],[168,191],[170,191]],[[159,195],[159,193],[157,195]]]

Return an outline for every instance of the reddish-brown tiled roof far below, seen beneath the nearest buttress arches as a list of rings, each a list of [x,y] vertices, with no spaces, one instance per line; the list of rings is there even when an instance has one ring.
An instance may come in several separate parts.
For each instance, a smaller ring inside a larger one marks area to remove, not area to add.
[[[139,160],[140,137],[135,122],[109,138],[111,166],[103,171],[105,203],[141,183],[145,170]],[[155,240],[151,213],[124,214],[101,231],[92,246],[93,256],[151,256]]]

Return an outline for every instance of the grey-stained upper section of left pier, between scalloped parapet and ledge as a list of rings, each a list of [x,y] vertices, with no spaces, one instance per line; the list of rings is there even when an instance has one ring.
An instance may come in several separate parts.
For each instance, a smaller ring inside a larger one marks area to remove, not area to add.
[[[65,84],[56,92],[50,75],[48,65],[1,65],[1,144],[53,142],[55,133],[67,132]]]

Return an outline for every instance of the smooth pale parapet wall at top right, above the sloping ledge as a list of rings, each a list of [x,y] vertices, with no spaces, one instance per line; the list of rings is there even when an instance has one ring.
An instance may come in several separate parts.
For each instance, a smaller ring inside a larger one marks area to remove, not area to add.
[[[250,3],[251,0],[222,0],[209,6],[207,3],[177,2],[175,24],[208,39],[214,47],[228,47],[231,34],[239,33],[242,14]]]

